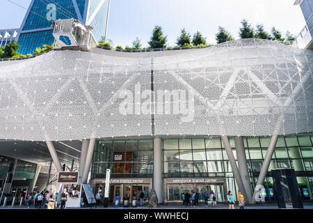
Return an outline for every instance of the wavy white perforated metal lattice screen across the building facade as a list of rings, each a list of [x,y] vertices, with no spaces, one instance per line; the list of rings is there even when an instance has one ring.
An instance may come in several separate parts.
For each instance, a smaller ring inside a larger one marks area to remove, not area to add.
[[[0,138],[313,132],[310,50],[247,39],[116,55],[54,51],[0,62]]]

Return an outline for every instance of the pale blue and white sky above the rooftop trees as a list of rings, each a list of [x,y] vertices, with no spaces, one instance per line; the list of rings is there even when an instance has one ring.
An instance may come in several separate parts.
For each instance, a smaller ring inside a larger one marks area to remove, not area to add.
[[[31,0],[12,0],[28,8]],[[218,26],[224,26],[238,38],[240,21],[253,26],[264,24],[270,31],[275,26],[284,34],[298,34],[305,20],[295,0],[111,0],[108,38],[114,45],[131,45],[138,37],[147,46],[152,29],[161,25],[168,44],[175,45],[179,31],[191,35],[200,31],[208,43],[216,43]],[[26,10],[7,0],[0,0],[0,29],[17,28]]]

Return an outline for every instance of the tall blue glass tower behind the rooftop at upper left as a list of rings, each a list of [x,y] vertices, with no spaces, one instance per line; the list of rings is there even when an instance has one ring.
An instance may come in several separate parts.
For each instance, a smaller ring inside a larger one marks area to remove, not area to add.
[[[93,26],[99,41],[106,37],[110,0],[32,0],[19,29],[19,54],[33,54],[36,47],[53,44],[53,20],[77,19]]]

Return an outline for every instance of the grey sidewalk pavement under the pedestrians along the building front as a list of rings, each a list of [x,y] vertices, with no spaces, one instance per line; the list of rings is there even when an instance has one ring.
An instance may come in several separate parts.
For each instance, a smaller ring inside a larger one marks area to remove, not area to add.
[[[303,206],[305,209],[313,209],[313,203],[309,203],[309,202],[305,202],[303,203]],[[193,206],[182,206],[179,205],[177,203],[170,203],[170,204],[162,204],[159,206],[159,208],[156,209],[208,209],[208,210],[216,210],[216,209],[228,209],[229,206],[227,204],[217,204],[216,206],[212,207],[205,207],[204,204],[200,204],[200,206],[198,207],[193,207]],[[0,210],[1,209],[27,209],[26,206],[0,206]],[[30,209],[35,209],[33,208],[33,206],[31,206]],[[45,208],[41,208],[45,209]],[[60,208],[56,208],[56,209],[60,209]],[[66,209],[152,209],[152,208],[148,208],[147,205],[145,206],[137,206],[136,208],[132,208],[132,207],[128,207],[128,208],[124,208],[123,206],[120,206],[120,208],[115,208],[113,205],[109,205],[107,208],[104,208],[104,206],[99,206],[99,207],[95,207],[93,205],[93,207],[85,207],[85,208],[66,208]],[[235,209],[239,209],[239,206],[236,205]],[[257,204],[257,205],[246,205],[245,209],[278,209],[278,205],[277,203],[264,203],[264,204]]]

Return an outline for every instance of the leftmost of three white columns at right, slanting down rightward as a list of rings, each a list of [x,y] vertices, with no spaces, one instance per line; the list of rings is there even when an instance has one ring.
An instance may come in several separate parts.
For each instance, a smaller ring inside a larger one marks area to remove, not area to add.
[[[243,185],[243,182],[241,180],[241,175],[240,175],[239,169],[237,167],[236,160],[234,158],[234,154],[232,153],[232,147],[230,146],[230,141],[228,141],[228,137],[225,135],[221,136],[220,138],[222,139],[223,144],[225,146],[225,151],[227,153],[228,160],[230,160],[230,166],[232,167],[232,173],[234,174],[234,178],[235,178],[236,183],[239,187],[239,190],[243,194],[243,197],[248,197],[246,190],[245,190],[245,187]]]

